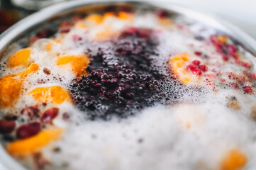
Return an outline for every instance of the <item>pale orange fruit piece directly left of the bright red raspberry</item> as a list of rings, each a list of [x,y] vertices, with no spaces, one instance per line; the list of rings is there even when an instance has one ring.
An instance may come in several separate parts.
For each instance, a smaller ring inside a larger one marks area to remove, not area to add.
[[[176,75],[177,78],[179,78],[179,80],[185,84],[191,82],[191,76],[184,68],[188,60],[189,54],[187,52],[184,52],[180,55],[175,55],[171,60],[169,60],[173,74]]]

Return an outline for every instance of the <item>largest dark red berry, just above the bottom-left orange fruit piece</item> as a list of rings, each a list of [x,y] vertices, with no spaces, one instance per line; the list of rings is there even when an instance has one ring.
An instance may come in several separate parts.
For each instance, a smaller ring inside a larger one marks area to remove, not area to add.
[[[41,130],[40,123],[38,122],[29,123],[27,125],[21,125],[16,131],[16,137],[18,139],[25,139],[27,137],[32,137],[38,134],[40,130]]]

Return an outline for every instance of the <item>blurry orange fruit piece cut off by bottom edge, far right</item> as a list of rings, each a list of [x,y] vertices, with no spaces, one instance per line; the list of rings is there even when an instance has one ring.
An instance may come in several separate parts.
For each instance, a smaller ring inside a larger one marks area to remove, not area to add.
[[[247,164],[247,157],[238,149],[232,149],[221,162],[221,170],[238,170],[243,169]]]

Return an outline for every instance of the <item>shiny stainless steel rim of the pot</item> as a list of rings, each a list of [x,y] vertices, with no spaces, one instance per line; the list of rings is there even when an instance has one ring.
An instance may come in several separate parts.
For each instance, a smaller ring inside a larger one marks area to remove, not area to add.
[[[228,33],[228,35],[233,36],[233,38],[239,40],[240,42],[247,47],[252,53],[256,55],[256,41],[247,35],[247,33],[243,32],[236,26],[232,24],[222,21],[219,18],[209,17],[203,13],[199,13],[196,11],[192,11],[188,8],[184,8],[181,6],[177,6],[167,2],[161,1],[121,1],[121,0],[112,0],[112,1],[104,1],[104,0],[76,0],[76,1],[66,1],[60,4],[55,4],[48,8],[44,8],[41,11],[38,11],[23,20],[19,21],[15,25],[11,26],[8,30],[0,35],[0,59],[1,55],[5,51],[6,47],[11,44],[14,40],[16,40],[20,35],[26,33],[33,26],[37,26],[40,23],[48,21],[48,18],[55,16],[57,14],[64,13],[65,11],[72,11],[75,8],[79,8],[81,6],[89,6],[95,4],[116,4],[116,3],[131,3],[131,4],[144,4],[148,6],[155,6],[158,8],[165,8],[169,11],[173,11],[174,13],[179,13],[184,16],[188,16],[189,18],[194,18],[201,23],[205,23],[208,26],[212,26],[213,28],[217,28],[222,30],[224,33]],[[249,167],[250,166],[250,167]],[[255,165],[254,165],[255,166]],[[24,169],[18,162],[15,161],[9,154],[6,153],[4,148],[0,145],[0,169],[1,170],[26,170]],[[253,169],[252,164],[248,164],[247,169]]]

